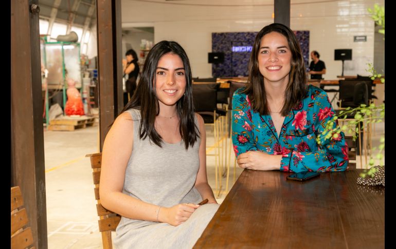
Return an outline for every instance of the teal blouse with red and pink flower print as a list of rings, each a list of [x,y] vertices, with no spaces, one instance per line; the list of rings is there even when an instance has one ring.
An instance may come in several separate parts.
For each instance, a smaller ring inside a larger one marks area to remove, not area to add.
[[[325,91],[309,85],[305,98],[285,117],[279,138],[270,115],[250,109],[245,88],[232,97],[232,143],[235,155],[258,150],[282,155],[281,171],[344,171],[348,165],[348,145],[341,132],[338,137],[316,143],[327,121],[334,114]],[[335,122],[334,126],[338,125]]]

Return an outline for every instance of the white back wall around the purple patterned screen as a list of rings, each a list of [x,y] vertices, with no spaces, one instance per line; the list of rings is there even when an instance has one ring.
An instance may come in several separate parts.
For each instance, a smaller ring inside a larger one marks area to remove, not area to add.
[[[154,43],[173,40],[181,44],[189,56],[193,76],[205,78],[211,76],[211,64],[207,63],[211,33],[258,32],[273,23],[273,5],[267,2],[259,5],[260,1],[255,1],[257,6],[208,7],[122,0],[121,20],[123,25],[130,26],[150,22],[154,27]],[[367,8],[372,8],[374,3],[385,5],[384,0],[293,2],[291,28],[310,31],[310,51],[317,50],[326,63],[327,73],[323,78],[336,79],[341,74],[342,63],[334,61],[334,49],[342,48],[353,50],[353,60],[345,62],[344,75],[368,74],[366,64],[373,62],[374,57],[374,22]],[[367,35],[367,42],[353,42],[354,35]]]

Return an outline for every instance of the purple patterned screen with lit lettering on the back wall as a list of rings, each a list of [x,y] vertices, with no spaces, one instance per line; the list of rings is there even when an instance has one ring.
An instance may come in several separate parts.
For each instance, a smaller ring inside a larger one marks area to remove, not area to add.
[[[308,68],[310,31],[294,31],[300,42],[305,67]],[[212,52],[223,52],[224,62],[212,64],[212,76],[247,76],[251,46],[257,32],[212,33]]]

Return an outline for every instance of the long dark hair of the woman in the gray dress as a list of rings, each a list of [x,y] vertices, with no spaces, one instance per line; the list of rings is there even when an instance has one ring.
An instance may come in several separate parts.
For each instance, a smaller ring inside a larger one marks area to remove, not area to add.
[[[139,84],[127,105],[122,109],[121,113],[131,109],[140,109],[141,122],[139,126],[140,139],[149,137],[154,144],[161,146],[163,142],[161,136],[154,128],[155,117],[159,113],[158,99],[155,91],[155,72],[157,70],[159,59],[166,53],[177,54],[183,61],[186,75],[186,91],[181,99],[176,103],[177,116],[179,117],[179,132],[184,140],[186,150],[188,146],[194,146],[197,138],[199,138],[199,128],[194,122],[194,104],[192,101],[192,76],[191,67],[187,54],[176,42],[161,41],[147,54],[145,65],[139,80]]]

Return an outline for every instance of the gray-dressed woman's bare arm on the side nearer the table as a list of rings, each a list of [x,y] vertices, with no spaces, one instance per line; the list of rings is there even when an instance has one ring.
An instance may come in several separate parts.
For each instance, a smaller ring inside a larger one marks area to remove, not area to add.
[[[213,191],[208,184],[208,178],[206,175],[206,132],[205,132],[205,124],[204,120],[200,116],[200,114],[195,113],[199,128],[200,128],[200,136],[201,136],[201,144],[200,144],[200,169],[198,170],[198,174],[195,180],[195,188],[199,191],[202,196],[202,199],[208,199],[208,203],[217,203],[214,198]]]

